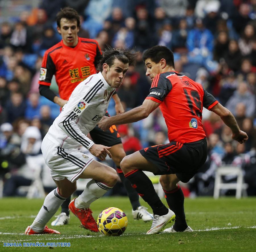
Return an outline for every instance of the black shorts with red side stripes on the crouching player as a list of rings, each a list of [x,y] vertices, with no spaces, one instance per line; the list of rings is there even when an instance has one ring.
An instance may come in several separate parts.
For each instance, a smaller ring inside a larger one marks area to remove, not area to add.
[[[206,138],[181,144],[170,142],[144,148],[139,151],[159,169],[155,175],[176,174],[181,182],[187,183],[205,163],[207,158]]]

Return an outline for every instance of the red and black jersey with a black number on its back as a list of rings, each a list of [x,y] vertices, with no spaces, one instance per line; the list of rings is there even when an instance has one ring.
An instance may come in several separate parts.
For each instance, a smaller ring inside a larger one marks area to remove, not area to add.
[[[160,103],[169,141],[195,142],[205,137],[203,107],[210,110],[218,101],[202,85],[176,72],[156,75],[146,99]]]

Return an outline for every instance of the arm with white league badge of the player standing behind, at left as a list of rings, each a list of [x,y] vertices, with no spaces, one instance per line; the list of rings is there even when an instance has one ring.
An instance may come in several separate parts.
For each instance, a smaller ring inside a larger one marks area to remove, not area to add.
[[[39,93],[47,98],[48,100],[58,104],[63,107],[67,101],[59,98],[52,90],[50,90],[51,79],[55,74],[56,67],[48,51],[45,52],[42,66],[40,69],[39,78]]]

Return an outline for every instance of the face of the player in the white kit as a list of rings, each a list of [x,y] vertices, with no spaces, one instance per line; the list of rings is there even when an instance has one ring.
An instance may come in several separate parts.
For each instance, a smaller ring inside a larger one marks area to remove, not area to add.
[[[105,63],[106,64],[106,63]],[[129,68],[128,63],[123,63],[122,61],[115,59],[114,63],[111,67],[107,64],[105,65],[106,68],[106,81],[112,88],[119,88],[122,84],[123,78],[125,77],[125,73]],[[103,66],[104,69],[104,66]]]

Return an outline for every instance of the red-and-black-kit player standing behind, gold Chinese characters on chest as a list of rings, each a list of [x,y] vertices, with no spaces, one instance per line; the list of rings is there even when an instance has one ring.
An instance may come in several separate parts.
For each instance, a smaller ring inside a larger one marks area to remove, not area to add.
[[[102,57],[96,40],[78,37],[79,28],[78,13],[70,7],[61,9],[57,14],[57,30],[61,34],[62,40],[45,52],[42,61],[39,79],[40,94],[60,107],[67,103],[71,93],[80,82],[96,73],[96,67]],[[53,75],[55,75],[59,87],[60,97],[49,89]],[[112,97],[117,114],[123,113],[123,106],[117,94],[113,94]],[[108,112],[106,115],[109,116]],[[133,217],[135,219],[142,218],[144,221],[152,220],[153,215],[140,205],[139,195],[120,169],[120,162],[125,156],[125,152],[115,125],[112,125],[106,132],[97,126],[90,131],[90,136],[96,144],[112,147],[110,149],[112,159],[131,201]],[[61,214],[51,223],[52,226],[64,225],[69,222],[69,203],[70,197],[61,205]]]

